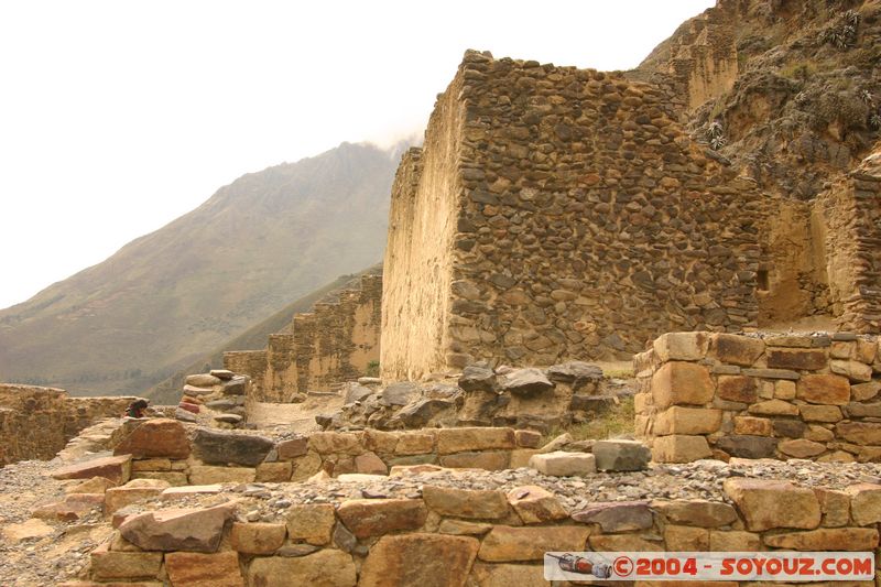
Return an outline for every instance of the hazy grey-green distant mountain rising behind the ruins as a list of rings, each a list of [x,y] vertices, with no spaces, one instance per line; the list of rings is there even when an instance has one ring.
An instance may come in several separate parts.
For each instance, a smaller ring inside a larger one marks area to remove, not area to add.
[[[102,263],[0,311],[0,381],[143,392],[291,300],[372,265],[401,152],[342,143],[249,173]]]

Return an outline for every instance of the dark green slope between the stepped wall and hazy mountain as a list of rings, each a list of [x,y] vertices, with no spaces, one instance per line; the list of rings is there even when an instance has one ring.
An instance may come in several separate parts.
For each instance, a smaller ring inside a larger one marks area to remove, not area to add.
[[[340,275],[333,282],[319,287],[300,300],[291,302],[272,316],[251,326],[239,336],[226,340],[214,350],[180,369],[170,378],[155,384],[143,393],[155,404],[173,404],[181,400],[181,388],[187,374],[207,372],[209,369],[219,369],[224,365],[224,352],[227,350],[252,350],[265,348],[269,335],[289,333],[292,328],[294,314],[311,312],[316,302],[335,302],[342,290],[354,290],[360,285],[360,278],[365,274],[382,272],[382,264],[377,264],[352,275]]]

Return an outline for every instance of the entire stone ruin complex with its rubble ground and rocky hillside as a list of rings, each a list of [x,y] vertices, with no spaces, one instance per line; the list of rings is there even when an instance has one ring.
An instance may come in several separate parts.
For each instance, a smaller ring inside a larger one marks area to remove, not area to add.
[[[466,51],[381,269],[142,417],[0,384],[0,584],[881,585],[879,47],[877,0],[718,0],[628,72]]]

